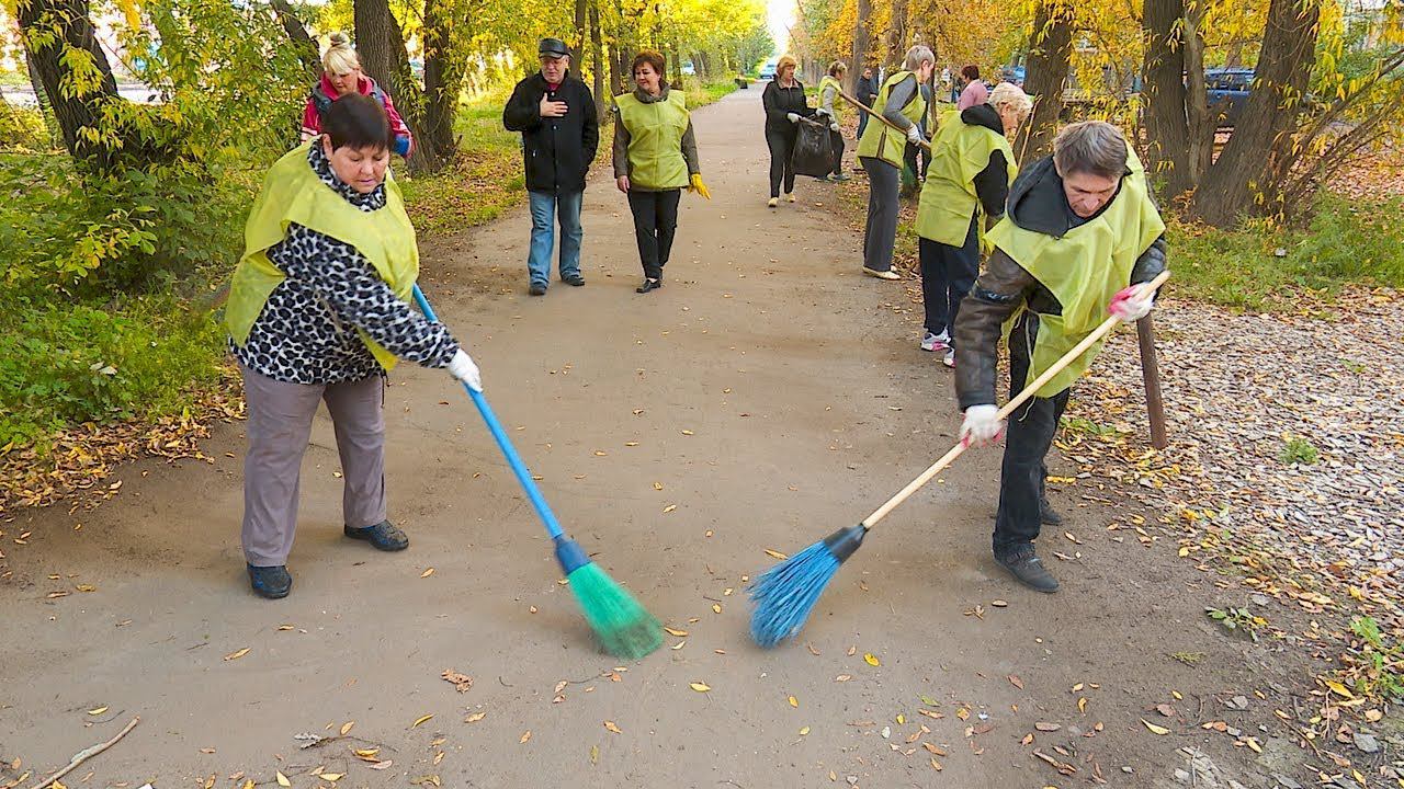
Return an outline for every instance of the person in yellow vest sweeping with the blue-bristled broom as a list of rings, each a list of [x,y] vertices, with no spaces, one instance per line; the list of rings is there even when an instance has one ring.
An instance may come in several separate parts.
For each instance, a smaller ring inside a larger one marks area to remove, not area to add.
[[[1008,211],[990,232],[994,251],[956,320],[962,441],[979,446],[1004,432],[994,404],[1001,337],[1008,340],[1012,397],[1088,337],[1108,312],[1126,321],[1150,312],[1154,293],[1144,284],[1165,270],[1164,232],[1146,168],[1111,124],[1064,128],[1052,157],[1021,170]],[[1040,524],[1061,524],[1045,496],[1043,458],[1073,383],[1098,351],[1101,344],[1092,345],[1054,375],[1008,425],[994,559],[1043,592],[1057,591],[1059,583],[1033,541]]]

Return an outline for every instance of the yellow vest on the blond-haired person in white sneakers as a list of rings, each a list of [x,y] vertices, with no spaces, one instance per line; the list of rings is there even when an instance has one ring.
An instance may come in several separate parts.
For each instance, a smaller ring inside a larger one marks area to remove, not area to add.
[[[941,117],[941,126],[931,139],[931,167],[927,184],[917,204],[917,234],[952,247],[965,246],[970,219],[984,215],[984,206],[974,191],[974,177],[988,164],[995,152],[1004,153],[1009,184],[1018,170],[1014,149],[1004,135],[986,126],[972,126],[960,121],[960,111],[951,110]],[[984,236],[984,222],[976,222],[976,234]]]

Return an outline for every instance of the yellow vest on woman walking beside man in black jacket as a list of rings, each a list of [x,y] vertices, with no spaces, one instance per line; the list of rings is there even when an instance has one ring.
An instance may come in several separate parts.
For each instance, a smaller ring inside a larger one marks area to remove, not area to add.
[[[682,135],[688,131],[687,97],[670,90],[661,101],[644,104],[632,93],[615,97],[619,122],[629,131],[629,183],[644,190],[688,185]]]

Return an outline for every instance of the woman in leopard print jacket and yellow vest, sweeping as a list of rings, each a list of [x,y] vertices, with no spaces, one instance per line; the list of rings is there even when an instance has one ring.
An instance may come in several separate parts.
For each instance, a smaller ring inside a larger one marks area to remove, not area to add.
[[[385,373],[402,358],[482,386],[448,329],[407,303],[420,256],[388,178],[393,145],[379,101],[337,98],[322,135],[268,170],[244,227],[225,324],[249,406],[244,559],[267,598],[292,588],[298,472],[319,402],[341,456],[343,532],[403,550],[409,538],[386,519]]]

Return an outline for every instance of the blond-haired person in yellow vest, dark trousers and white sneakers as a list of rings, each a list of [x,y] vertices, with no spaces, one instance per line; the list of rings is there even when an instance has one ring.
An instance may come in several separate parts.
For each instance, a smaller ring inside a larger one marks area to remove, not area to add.
[[[931,138],[931,167],[917,206],[927,307],[921,350],[939,351],[946,366],[956,366],[951,327],[980,272],[984,229],[1004,216],[1018,174],[1008,138],[1032,107],[1022,88],[1000,83],[988,104],[946,112]]]

